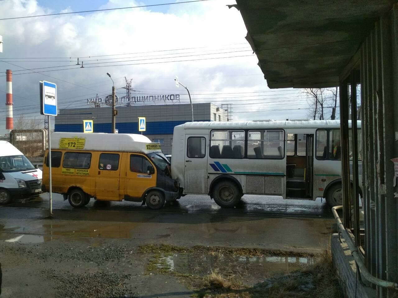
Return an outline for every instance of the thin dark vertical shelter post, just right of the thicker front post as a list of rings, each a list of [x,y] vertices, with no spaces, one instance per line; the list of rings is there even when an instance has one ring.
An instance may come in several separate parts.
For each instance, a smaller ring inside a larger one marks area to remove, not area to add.
[[[352,197],[351,203],[354,206],[353,228],[355,246],[361,246],[359,239],[359,192],[358,192],[358,128],[357,128],[357,72],[351,72],[351,149],[352,149]]]

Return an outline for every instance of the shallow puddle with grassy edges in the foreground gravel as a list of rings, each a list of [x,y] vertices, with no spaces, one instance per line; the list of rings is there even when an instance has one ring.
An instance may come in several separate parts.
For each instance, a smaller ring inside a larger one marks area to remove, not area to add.
[[[280,257],[228,255],[223,253],[175,253],[158,258],[157,267],[166,271],[204,276],[212,271],[225,275],[240,275],[247,282],[275,274],[291,273],[314,263],[314,257]]]

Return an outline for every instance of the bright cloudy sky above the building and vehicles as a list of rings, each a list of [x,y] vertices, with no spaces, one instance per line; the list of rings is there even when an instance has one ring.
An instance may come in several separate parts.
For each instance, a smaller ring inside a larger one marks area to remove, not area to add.
[[[183,0],[0,0],[0,19]],[[5,128],[6,69],[13,71],[14,119],[39,116],[39,81],[57,83],[59,108],[87,106],[133,79],[135,95],[180,93],[194,103],[233,104],[234,120],[307,118],[294,89],[269,89],[248,45],[234,0],[0,20],[0,134]],[[77,64],[79,57],[80,65]],[[81,68],[83,61],[84,68]],[[28,71],[26,69],[33,69]],[[123,96],[124,89],[118,89]],[[159,104],[159,103],[158,103]],[[40,119],[42,119],[41,117]]]

